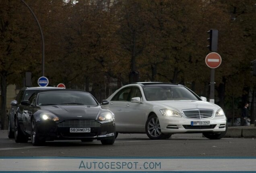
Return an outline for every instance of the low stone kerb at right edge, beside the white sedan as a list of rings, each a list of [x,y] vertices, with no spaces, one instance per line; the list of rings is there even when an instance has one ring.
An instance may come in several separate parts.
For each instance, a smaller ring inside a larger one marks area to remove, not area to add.
[[[225,137],[254,138],[254,137],[256,137],[256,127],[254,127],[254,125],[228,127]]]

